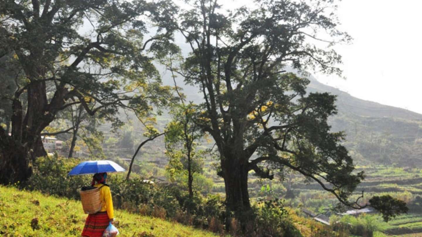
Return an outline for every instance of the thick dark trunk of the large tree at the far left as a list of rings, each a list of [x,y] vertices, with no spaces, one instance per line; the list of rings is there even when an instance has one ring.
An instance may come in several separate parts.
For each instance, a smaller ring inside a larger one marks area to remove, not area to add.
[[[47,110],[45,82],[33,82],[27,88],[28,108],[23,118],[22,103],[12,102],[11,136],[0,139],[0,182],[3,184],[28,180],[32,175],[31,162],[45,156],[41,131],[54,119]],[[17,96],[19,97],[19,96]]]

